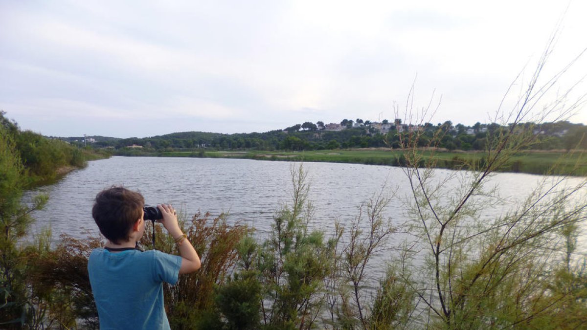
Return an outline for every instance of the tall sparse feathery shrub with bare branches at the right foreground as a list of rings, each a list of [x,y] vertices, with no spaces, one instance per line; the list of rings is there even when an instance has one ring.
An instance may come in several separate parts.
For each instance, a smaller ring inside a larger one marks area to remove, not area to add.
[[[484,158],[463,164],[470,171],[440,177],[432,170],[437,160],[423,159],[417,151],[420,133],[409,134],[402,142],[409,150],[404,153],[404,173],[411,190],[406,228],[414,240],[406,251],[411,260],[401,263],[412,276],[401,281],[415,289],[427,325],[447,329],[587,325],[587,258],[577,246],[579,228],[587,220],[587,180],[542,177],[525,195],[502,196],[500,184],[491,179],[517,153],[537,143],[534,125],[520,126],[522,120],[566,116],[584,103],[586,95],[580,95],[575,102],[555,99],[535,109],[568,69],[539,85],[551,46],[552,40],[512,110],[496,113],[511,123],[510,128],[488,134]],[[439,133],[430,146],[442,139]],[[545,174],[553,173],[556,165]],[[499,215],[487,216],[492,213]]]

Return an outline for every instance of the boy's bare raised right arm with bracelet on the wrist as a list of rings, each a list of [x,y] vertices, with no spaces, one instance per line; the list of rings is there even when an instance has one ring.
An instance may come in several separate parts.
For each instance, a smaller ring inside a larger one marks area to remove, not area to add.
[[[177,223],[177,215],[175,210],[170,205],[162,204],[157,206],[163,214],[163,219],[159,220],[167,232],[173,238],[179,238],[183,235],[180,225]],[[181,244],[178,245],[181,256],[180,274],[188,274],[200,269],[201,262],[197,252],[191,245],[190,241],[185,238]]]

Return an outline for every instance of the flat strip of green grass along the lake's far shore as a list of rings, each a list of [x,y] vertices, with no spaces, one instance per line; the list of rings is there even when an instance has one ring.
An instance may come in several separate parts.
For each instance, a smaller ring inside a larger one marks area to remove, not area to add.
[[[437,160],[436,167],[460,169],[464,163],[480,161],[484,153],[422,151],[423,157]],[[281,161],[322,161],[399,166],[402,151],[391,150],[314,150],[314,151],[171,151],[165,157],[210,157]],[[466,167],[465,167],[466,168]],[[529,151],[513,156],[500,171],[531,174],[570,174],[587,176],[587,157],[580,153]]]

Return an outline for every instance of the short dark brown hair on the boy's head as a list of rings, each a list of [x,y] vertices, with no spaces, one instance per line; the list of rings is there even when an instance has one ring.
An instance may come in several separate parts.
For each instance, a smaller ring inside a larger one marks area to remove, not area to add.
[[[124,187],[112,186],[100,191],[92,208],[92,217],[100,233],[114,244],[129,241],[134,223],[141,217],[143,195]]]

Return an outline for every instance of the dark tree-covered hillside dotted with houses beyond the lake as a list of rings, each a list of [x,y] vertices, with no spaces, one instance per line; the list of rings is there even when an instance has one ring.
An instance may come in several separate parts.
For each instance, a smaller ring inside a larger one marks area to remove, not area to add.
[[[355,123],[359,123],[356,125]],[[376,124],[389,124],[389,129],[376,129]],[[510,129],[508,125],[497,123],[473,126],[463,124],[453,125],[452,122],[431,124],[424,123],[418,126],[402,124],[399,119],[390,124],[387,120],[382,123],[371,123],[369,120],[356,121],[345,119],[340,123],[342,130],[326,130],[323,122],[316,124],[305,122],[286,127],[283,130],[272,130],[265,133],[237,133],[221,134],[206,132],[181,132],[163,136],[129,139],[114,139],[95,137],[96,142],[86,143],[96,148],[114,149],[115,153],[124,154],[129,146],[142,147],[142,151],[166,150],[331,150],[348,148],[390,147],[403,149],[402,140],[416,132],[419,134],[419,147],[431,146],[447,150],[485,150],[488,135],[501,134]],[[587,149],[587,126],[573,124],[567,121],[555,123],[517,123],[519,130],[532,130],[537,136],[535,142],[528,149],[538,150],[571,150]],[[435,137],[442,134],[442,139]],[[62,138],[69,143],[83,145],[82,137]],[[135,150],[140,153],[141,151]]]

